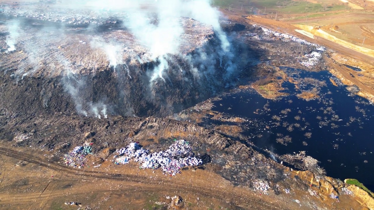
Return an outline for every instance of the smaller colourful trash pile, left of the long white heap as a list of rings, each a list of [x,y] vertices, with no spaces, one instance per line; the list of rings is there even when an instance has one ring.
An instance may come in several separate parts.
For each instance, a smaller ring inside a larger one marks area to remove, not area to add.
[[[67,166],[73,166],[74,168],[83,168],[87,162],[86,155],[88,154],[92,154],[91,145],[76,146],[73,151],[64,155],[64,163]]]

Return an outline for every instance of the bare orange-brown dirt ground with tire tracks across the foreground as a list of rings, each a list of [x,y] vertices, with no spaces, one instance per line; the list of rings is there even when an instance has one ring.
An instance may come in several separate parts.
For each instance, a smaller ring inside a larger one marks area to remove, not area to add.
[[[162,209],[160,203],[167,203],[165,197],[174,195],[183,198],[182,209],[199,210],[310,209],[313,205],[328,209],[349,205],[361,209],[363,202],[349,195],[341,195],[340,202],[334,202],[328,197],[331,187],[321,185],[324,182],[310,187],[316,192],[313,196],[303,190],[295,190],[291,195],[272,192],[266,195],[245,186],[234,186],[221,176],[201,169],[191,168],[169,177],[157,170],[140,170],[134,164],[116,166],[108,161],[99,168],[76,170],[52,161],[40,151],[26,152],[7,146],[1,146],[0,151],[0,207],[4,210],[77,209],[65,205],[67,201],[92,209]],[[294,173],[289,169],[285,173],[314,185],[311,173]],[[306,197],[312,206],[299,204]]]

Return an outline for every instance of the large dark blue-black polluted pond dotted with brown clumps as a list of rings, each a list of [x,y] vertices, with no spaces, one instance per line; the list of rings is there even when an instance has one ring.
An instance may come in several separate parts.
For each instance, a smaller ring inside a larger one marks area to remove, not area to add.
[[[254,90],[237,91],[220,97],[212,110],[248,120],[240,123],[242,135],[249,136],[258,147],[279,155],[306,151],[306,155],[320,161],[327,176],[358,179],[373,191],[374,106],[352,95],[343,84],[334,86],[329,80],[334,77],[327,71],[307,72],[287,67],[283,71],[299,81],[298,88],[283,83],[284,92],[290,96],[273,101]],[[305,101],[295,94],[300,89],[316,88],[319,99]],[[214,127],[235,123],[208,118],[200,124]]]

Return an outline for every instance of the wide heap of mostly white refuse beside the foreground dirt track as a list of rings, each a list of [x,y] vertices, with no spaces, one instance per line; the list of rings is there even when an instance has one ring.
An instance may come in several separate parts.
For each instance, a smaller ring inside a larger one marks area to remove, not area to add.
[[[160,152],[149,153],[138,142],[130,143],[126,148],[117,150],[114,155],[116,164],[127,164],[130,160],[139,162],[141,169],[161,168],[164,174],[175,176],[185,166],[199,166],[203,161],[194,156],[189,142],[176,140],[169,149]]]

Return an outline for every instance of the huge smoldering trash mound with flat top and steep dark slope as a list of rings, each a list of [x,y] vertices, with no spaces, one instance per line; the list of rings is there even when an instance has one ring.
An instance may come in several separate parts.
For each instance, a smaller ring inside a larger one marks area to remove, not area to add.
[[[11,27],[1,27],[0,103],[25,114],[164,117],[230,87],[240,65],[233,59],[237,49],[224,50],[210,25],[178,21],[180,44],[161,54],[121,26],[32,24],[18,28],[10,52]]]

